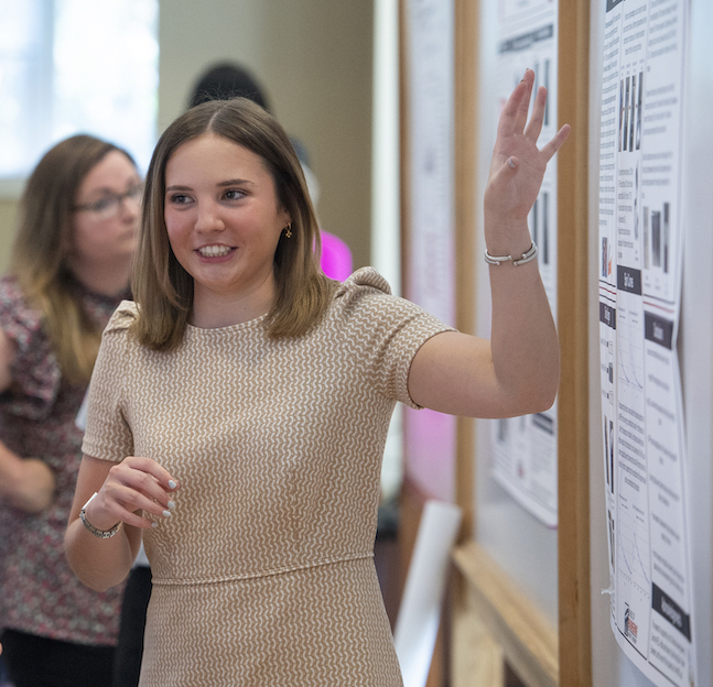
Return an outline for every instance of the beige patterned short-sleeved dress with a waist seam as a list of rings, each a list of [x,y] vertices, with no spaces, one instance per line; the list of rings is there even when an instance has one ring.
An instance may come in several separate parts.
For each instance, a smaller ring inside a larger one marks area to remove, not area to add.
[[[356,272],[324,319],[188,327],[160,353],[125,302],[90,388],[84,452],[150,456],[177,480],[145,531],[153,571],[141,687],[401,685],[374,568],[379,475],[409,367],[447,329]]]

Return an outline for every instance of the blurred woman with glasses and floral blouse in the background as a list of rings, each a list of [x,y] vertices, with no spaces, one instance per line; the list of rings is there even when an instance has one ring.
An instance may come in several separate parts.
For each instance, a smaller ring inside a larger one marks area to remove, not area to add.
[[[129,293],[141,193],[123,150],[58,143],[28,181],[0,280],[0,639],[15,687],[111,681],[121,589],[85,587],[63,537],[82,460],[75,416]]]

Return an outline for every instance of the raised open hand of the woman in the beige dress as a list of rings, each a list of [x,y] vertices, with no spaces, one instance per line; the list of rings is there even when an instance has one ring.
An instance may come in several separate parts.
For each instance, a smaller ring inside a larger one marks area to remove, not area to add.
[[[538,149],[547,89],[540,87],[534,95],[532,116],[528,121],[533,83],[534,73],[528,69],[500,115],[485,192],[486,231],[488,225],[495,225],[494,228],[499,227],[501,230],[504,226],[521,227],[522,222],[527,222],[527,216],[540,192],[547,164],[570,133],[570,126],[564,124],[551,141]],[[491,238],[500,242],[503,237]]]

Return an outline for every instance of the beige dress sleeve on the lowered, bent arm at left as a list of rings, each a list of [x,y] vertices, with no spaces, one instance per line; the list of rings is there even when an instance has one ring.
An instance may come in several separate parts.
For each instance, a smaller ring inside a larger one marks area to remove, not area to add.
[[[87,428],[82,452],[120,462],[133,455],[133,435],[125,416],[125,380],[129,364],[129,327],[136,304],[122,301],[106,326],[88,392]]]

